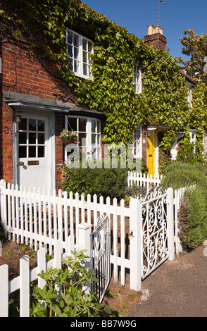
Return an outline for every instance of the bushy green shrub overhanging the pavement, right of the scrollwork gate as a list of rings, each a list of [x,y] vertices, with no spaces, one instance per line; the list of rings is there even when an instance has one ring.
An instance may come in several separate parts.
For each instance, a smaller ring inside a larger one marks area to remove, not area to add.
[[[189,249],[199,246],[207,238],[207,177],[206,166],[201,163],[170,164],[161,182],[163,188],[187,187],[182,199],[182,230],[180,237]],[[195,187],[190,187],[196,185]]]

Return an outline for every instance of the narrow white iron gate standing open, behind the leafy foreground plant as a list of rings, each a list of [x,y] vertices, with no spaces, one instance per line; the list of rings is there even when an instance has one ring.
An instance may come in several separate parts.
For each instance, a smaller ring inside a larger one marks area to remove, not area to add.
[[[99,282],[92,283],[92,291],[99,296],[101,302],[111,279],[110,263],[110,218],[99,217],[91,233],[91,269]]]

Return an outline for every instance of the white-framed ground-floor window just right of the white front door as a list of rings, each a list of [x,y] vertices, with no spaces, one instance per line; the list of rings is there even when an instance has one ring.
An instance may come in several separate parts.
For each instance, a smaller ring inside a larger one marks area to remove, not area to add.
[[[85,116],[79,116],[79,115],[69,115],[65,116],[65,128],[68,128],[70,131],[70,118],[76,118],[77,119],[77,130],[73,130],[77,133],[77,136],[80,135],[80,133],[86,134],[86,140],[85,144],[82,145],[80,142],[80,149],[82,149],[85,153],[88,159],[92,160],[101,160],[101,120],[98,118],[90,118]],[[86,131],[80,131],[79,130],[79,120],[80,118],[86,120]],[[96,122],[95,130],[93,130],[93,122]],[[92,143],[92,136],[95,136],[95,142]],[[96,153],[94,153],[96,151]],[[67,147],[65,146],[65,160],[67,158]]]

